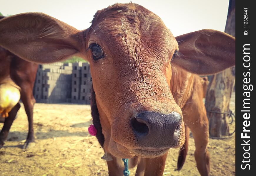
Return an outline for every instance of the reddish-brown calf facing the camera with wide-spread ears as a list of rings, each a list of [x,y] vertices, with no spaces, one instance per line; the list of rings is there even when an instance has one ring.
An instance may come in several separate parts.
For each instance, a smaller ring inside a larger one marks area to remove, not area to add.
[[[208,120],[195,74],[235,65],[235,38],[210,29],[174,38],[157,15],[129,3],[97,11],[83,31],[43,13],[14,15],[0,22],[0,39],[33,62],[72,55],[90,62],[92,116],[97,138],[113,158],[109,175],[122,175],[121,158],[138,165],[136,175],[162,175],[169,148],[186,141],[185,126],[195,139],[198,170],[209,175]],[[187,150],[180,153],[179,168]]]

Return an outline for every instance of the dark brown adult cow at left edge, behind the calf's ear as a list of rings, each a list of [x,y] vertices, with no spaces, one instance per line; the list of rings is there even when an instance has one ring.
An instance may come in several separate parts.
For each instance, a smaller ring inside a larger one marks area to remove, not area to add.
[[[33,106],[36,101],[32,91],[36,79],[36,71],[37,64],[23,60],[0,47],[0,84],[6,78],[11,78],[11,84],[20,87],[20,97],[28,116],[29,132],[23,148],[29,148],[34,145]],[[4,119],[4,126],[0,132],[0,147],[4,145],[19,108],[20,104],[17,103],[9,112],[9,117]],[[0,120],[3,120],[3,118],[0,118]]]

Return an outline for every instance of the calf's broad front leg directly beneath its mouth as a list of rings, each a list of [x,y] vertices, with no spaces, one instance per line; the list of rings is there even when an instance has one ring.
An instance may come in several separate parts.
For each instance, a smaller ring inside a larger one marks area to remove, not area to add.
[[[144,158],[145,173],[144,176],[161,176],[164,173],[165,160],[168,153],[157,158]]]

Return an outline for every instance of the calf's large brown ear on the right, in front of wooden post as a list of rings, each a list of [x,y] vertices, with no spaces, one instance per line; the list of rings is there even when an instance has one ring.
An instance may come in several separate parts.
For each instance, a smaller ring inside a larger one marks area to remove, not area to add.
[[[172,64],[188,72],[210,75],[235,65],[235,38],[212,29],[176,37],[179,54]]]

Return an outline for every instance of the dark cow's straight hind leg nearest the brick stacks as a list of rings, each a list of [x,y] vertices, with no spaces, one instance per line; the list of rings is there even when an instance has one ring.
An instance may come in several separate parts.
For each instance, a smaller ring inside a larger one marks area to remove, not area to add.
[[[29,132],[26,139],[26,142],[23,145],[23,148],[32,148],[34,147],[34,128],[33,128],[33,108],[36,100],[33,96],[33,85],[31,86],[26,84],[26,82],[22,83],[21,85],[21,100],[24,104],[24,108],[26,114],[28,116],[29,121]]]

